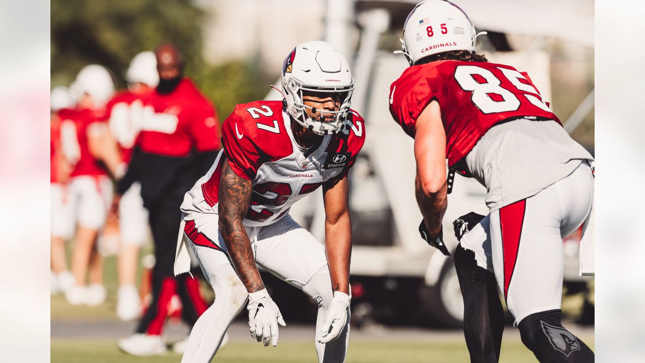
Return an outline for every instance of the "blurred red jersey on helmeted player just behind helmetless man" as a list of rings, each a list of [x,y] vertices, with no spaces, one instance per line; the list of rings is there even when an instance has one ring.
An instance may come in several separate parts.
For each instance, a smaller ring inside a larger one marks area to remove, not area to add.
[[[137,95],[128,90],[116,94],[106,105],[105,121],[119,143],[121,158],[129,163],[132,149],[143,127],[144,105],[150,94]]]

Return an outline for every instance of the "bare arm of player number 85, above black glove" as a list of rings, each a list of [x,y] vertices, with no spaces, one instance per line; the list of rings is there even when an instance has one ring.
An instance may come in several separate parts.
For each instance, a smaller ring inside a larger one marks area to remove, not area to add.
[[[417,119],[414,156],[417,160],[417,203],[430,231],[430,237],[437,238],[448,207],[446,132],[437,101],[430,102]]]

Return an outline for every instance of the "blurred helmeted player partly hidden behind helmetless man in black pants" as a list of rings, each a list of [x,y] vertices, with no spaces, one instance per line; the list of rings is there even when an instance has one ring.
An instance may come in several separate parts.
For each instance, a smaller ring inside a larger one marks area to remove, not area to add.
[[[106,106],[108,127],[121,151],[121,170],[132,158],[135,141],[143,127],[144,105],[159,83],[155,54],[147,51],[134,56],[125,79],[128,89],[117,93]],[[139,251],[149,235],[148,211],[143,206],[139,182],[133,182],[124,192],[117,207],[118,213],[111,213],[108,217],[108,220],[118,220],[119,229],[117,316],[121,320],[134,320],[141,313],[141,299],[135,282]]]

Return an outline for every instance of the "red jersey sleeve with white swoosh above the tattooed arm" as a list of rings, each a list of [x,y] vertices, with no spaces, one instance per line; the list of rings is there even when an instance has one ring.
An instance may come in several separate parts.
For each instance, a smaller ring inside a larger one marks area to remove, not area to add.
[[[241,178],[253,180],[262,165],[261,153],[246,129],[244,119],[236,111],[224,120],[222,144],[233,172]]]

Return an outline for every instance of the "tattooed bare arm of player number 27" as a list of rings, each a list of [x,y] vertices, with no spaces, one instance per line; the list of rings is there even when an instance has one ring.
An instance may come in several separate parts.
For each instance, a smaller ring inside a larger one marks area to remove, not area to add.
[[[237,271],[237,276],[250,293],[264,289],[264,283],[253,257],[253,249],[242,221],[251,200],[252,183],[240,178],[228,165],[219,180],[219,233]]]

